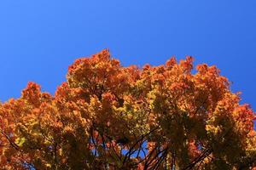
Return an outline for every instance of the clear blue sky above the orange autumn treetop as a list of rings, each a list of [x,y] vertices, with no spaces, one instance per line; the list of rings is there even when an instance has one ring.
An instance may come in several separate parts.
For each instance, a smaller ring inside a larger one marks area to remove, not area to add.
[[[176,55],[217,65],[256,109],[255,0],[1,0],[0,100],[28,81],[54,93],[74,59],[109,48],[123,65]]]

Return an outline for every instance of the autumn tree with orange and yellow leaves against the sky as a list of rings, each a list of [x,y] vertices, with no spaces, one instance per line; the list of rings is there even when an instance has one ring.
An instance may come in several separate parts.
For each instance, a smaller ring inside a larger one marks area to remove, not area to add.
[[[29,82],[0,105],[3,169],[250,169],[255,115],[215,66],[124,67],[108,50],[69,66],[55,95]]]

